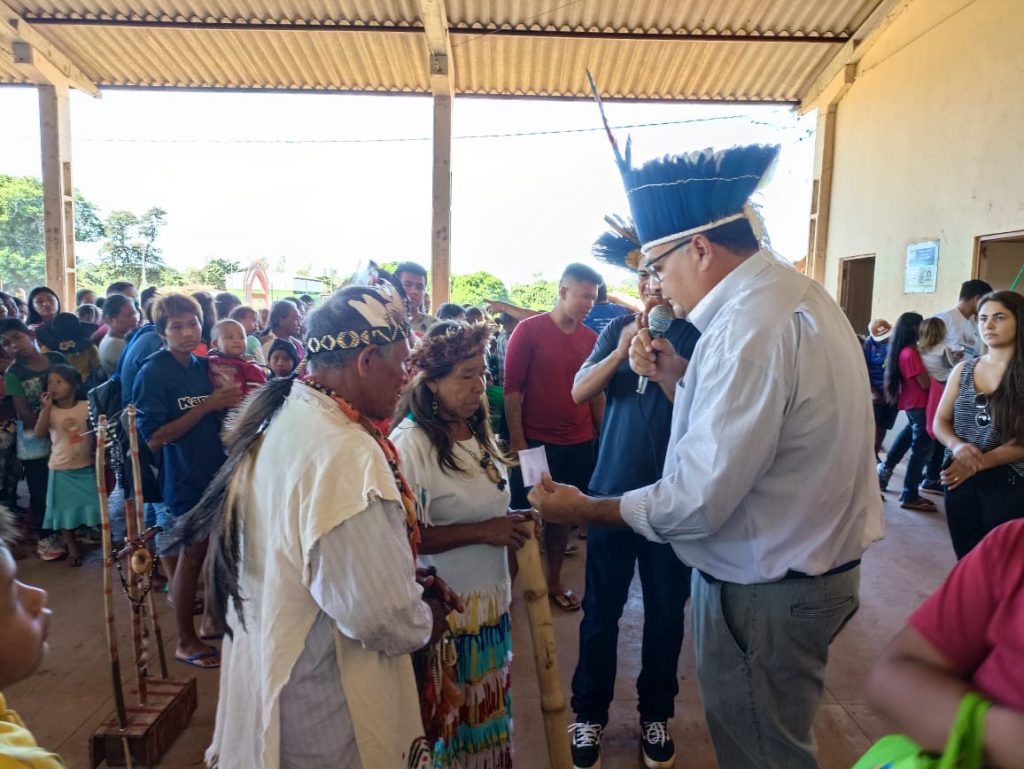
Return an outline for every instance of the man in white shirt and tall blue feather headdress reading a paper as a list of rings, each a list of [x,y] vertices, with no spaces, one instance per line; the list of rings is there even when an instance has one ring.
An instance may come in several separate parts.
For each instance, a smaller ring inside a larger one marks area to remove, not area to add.
[[[612,499],[547,480],[530,496],[545,517],[628,525],[694,567],[697,674],[729,769],[818,766],[811,727],[828,645],[883,535],[853,330],[820,286],[761,247],[748,205],[777,152],[640,168],[620,157],[644,263],[700,341],[688,367],[645,332],[631,346],[635,371],[674,383],[660,480]]]

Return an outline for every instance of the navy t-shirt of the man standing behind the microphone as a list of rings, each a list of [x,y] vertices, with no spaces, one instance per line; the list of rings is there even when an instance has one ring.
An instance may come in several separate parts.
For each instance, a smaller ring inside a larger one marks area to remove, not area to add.
[[[609,323],[585,366],[610,355],[618,346],[622,330],[632,321],[632,315],[624,315]],[[676,319],[665,337],[676,352],[689,358],[700,332],[689,321]],[[672,401],[656,384],[649,384],[643,395],[637,394],[639,379],[630,369],[629,360],[624,360],[604,389],[601,443],[590,479],[594,494],[617,496],[649,485],[662,477],[672,431]]]

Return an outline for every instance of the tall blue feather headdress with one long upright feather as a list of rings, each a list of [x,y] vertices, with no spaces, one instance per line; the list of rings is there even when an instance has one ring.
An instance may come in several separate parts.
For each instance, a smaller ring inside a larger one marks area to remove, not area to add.
[[[752,144],[668,155],[636,168],[632,139],[627,137],[626,149],[620,152],[594,79],[589,72],[587,77],[615,154],[644,253],[662,243],[739,219],[751,220],[760,240],[760,219],[751,210],[749,200],[768,176],[778,158],[779,145]]]

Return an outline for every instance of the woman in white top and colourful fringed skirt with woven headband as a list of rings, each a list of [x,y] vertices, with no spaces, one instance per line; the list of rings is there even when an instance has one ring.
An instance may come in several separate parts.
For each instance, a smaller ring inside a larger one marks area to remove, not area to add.
[[[466,606],[449,614],[462,703],[428,735],[437,767],[512,766],[507,549],[520,548],[532,524],[508,509],[508,460],[483,397],[489,338],[483,325],[433,326],[413,353],[418,373],[399,405],[408,416],[391,433],[417,499],[421,565],[443,573]]]

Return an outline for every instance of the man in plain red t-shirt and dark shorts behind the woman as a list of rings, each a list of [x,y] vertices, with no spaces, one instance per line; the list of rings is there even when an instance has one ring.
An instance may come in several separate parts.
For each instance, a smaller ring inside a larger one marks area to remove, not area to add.
[[[505,351],[509,450],[543,445],[551,477],[584,492],[594,470],[594,438],[604,400],[577,404],[572,381],[597,342],[597,334],[583,321],[603,283],[587,265],[568,265],[558,282],[555,308],[520,322]],[[512,476],[512,506],[528,506],[518,471]],[[548,593],[555,605],[575,611],[580,599],[561,583],[568,531],[565,524],[545,524]]]

